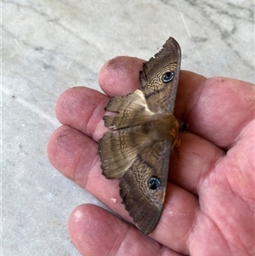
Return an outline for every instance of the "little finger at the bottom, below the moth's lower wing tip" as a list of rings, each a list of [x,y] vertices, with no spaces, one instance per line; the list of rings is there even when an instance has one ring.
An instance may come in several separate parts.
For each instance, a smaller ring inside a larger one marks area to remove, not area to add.
[[[181,255],[94,205],[76,208],[68,229],[71,241],[82,255]]]

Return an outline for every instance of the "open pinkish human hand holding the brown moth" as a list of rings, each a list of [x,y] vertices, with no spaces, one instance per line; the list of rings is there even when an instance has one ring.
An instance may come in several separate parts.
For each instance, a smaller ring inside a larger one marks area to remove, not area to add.
[[[142,60],[118,57],[99,73],[109,97],[139,88]],[[49,161],[68,179],[132,222],[117,179],[101,174],[98,140],[109,97],[70,88],[56,115],[63,125],[48,142]],[[189,123],[170,159],[161,219],[149,236],[91,204],[69,220],[71,241],[82,255],[253,255],[254,86],[226,77],[207,79],[181,71],[174,115]]]

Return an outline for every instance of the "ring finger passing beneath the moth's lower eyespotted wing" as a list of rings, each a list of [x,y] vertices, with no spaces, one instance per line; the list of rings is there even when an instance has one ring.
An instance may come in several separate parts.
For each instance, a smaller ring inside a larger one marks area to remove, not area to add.
[[[97,143],[93,139],[77,129],[63,126],[49,140],[48,157],[62,174],[124,219],[132,221],[119,196],[119,180],[105,179],[101,174]],[[192,226],[197,208],[196,196],[168,183],[161,219],[150,236],[177,252],[187,253],[187,230]]]

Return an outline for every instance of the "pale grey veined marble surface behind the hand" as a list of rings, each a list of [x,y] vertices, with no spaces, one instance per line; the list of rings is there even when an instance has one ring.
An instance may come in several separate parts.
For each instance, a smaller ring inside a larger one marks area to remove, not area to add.
[[[3,0],[2,8],[3,255],[80,255],[69,214],[100,203],[51,166],[46,147],[59,94],[99,89],[106,60],[147,60],[171,36],[182,69],[254,82],[252,0]]]

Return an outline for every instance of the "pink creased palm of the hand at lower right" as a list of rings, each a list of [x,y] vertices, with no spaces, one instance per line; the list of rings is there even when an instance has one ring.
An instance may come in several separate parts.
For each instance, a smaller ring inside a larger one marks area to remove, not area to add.
[[[236,156],[241,155],[241,149],[232,150]],[[200,207],[190,233],[194,242],[192,255],[252,255],[254,252],[251,209],[254,172],[250,168],[249,174],[247,170],[247,166],[238,167],[235,157],[224,156],[201,180]]]

